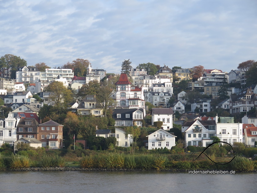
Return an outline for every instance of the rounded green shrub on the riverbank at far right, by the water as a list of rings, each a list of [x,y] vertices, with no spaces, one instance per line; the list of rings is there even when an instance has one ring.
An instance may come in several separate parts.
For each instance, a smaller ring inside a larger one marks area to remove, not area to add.
[[[236,156],[230,165],[233,170],[239,172],[251,172],[254,169],[254,162],[241,156]]]

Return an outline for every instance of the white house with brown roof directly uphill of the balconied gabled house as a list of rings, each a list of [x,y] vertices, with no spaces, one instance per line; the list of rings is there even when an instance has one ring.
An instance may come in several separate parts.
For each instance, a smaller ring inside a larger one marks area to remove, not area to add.
[[[172,108],[152,108],[152,125],[156,121],[162,121],[162,128],[170,130],[173,128],[173,114]]]

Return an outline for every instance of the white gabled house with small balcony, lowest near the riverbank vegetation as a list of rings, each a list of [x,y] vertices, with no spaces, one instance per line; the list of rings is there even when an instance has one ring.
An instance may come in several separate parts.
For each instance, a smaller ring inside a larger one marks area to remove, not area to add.
[[[171,147],[176,146],[175,138],[177,136],[163,130],[159,129],[149,135],[148,137],[148,150],[155,148],[167,148],[171,149]]]

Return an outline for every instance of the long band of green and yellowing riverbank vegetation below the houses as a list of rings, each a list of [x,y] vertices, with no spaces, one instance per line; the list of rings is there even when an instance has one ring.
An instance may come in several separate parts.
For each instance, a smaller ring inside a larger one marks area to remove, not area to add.
[[[5,149],[5,150],[3,150]],[[32,148],[27,145],[20,147],[14,155],[7,147],[0,149],[0,170],[15,170],[20,168],[46,167],[77,167],[95,169],[125,169],[125,170],[235,170],[251,172],[257,170],[257,161],[229,153],[227,146],[212,146],[201,154],[203,147],[189,146],[190,153],[183,148],[138,149],[135,154],[129,153],[129,148],[116,147],[112,150],[89,150],[76,148],[45,149]],[[256,148],[243,150],[249,156],[256,153]],[[194,152],[194,153],[192,153]],[[243,152],[243,153],[244,153]],[[200,155],[200,156],[199,156]],[[196,159],[197,158],[197,159]],[[233,159],[233,161],[231,161]],[[194,161],[195,160],[195,161]],[[215,164],[213,161],[219,164]],[[230,163],[228,163],[231,161]],[[228,163],[228,164],[225,164]],[[221,165],[224,164],[224,165]]]

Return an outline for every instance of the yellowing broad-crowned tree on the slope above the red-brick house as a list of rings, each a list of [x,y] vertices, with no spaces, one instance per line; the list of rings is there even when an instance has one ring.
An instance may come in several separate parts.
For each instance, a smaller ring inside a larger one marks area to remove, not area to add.
[[[56,107],[67,108],[68,104],[73,100],[71,90],[67,89],[62,82],[54,81],[45,88],[46,92],[50,92],[49,101]]]

